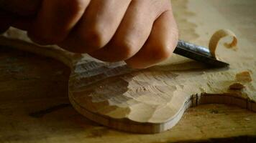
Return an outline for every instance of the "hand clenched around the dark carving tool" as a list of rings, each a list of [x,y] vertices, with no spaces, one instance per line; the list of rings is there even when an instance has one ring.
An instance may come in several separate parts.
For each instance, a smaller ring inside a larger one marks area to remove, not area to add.
[[[132,68],[145,68],[167,59],[178,41],[170,0],[10,0],[6,3],[21,7],[16,11],[4,9],[5,13],[16,15],[9,25],[27,30],[38,44],[58,44],[102,61],[124,60]]]

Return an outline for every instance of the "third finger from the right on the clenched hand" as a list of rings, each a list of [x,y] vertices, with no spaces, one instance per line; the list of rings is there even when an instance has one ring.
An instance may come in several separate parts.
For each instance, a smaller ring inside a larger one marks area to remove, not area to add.
[[[105,46],[122,21],[131,0],[93,0],[77,29],[62,45],[76,52],[91,52]]]

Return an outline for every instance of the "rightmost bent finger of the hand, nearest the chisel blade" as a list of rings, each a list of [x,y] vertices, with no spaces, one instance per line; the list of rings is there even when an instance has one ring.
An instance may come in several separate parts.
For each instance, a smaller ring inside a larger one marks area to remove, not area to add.
[[[165,11],[152,27],[146,44],[127,64],[134,69],[142,69],[168,59],[178,42],[178,28],[172,11]]]

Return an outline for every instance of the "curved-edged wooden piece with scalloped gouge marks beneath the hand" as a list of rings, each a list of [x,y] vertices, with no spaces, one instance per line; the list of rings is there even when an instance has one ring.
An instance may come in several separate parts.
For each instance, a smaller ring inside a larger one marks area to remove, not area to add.
[[[83,116],[107,127],[163,132],[173,127],[188,107],[198,104],[230,104],[256,112],[250,71],[244,71],[245,75],[236,69],[206,69],[196,61],[177,60],[180,56],[149,69],[132,70],[123,62],[104,63],[56,46],[37,46],[14,35],[7,35],[14,39],[1,36],[0,45],[50,56],[68,65],[71,104]],[[229,87],[237,82],[243,87]]]

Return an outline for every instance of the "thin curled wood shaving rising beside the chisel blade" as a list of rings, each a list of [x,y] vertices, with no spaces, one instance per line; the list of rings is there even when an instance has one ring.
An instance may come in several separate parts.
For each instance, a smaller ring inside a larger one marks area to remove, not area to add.
[[[214,56],[216,58],[216,47],[218,46],[219,41],[224,38],[225,36],[232,36],[233,40],[231,43],[225,43],[227,48],[232,48],[234,46],[237,46],[237,36],[228,29],[221,29],[219,31],[216,31],[210,39],[209,42],[209,50],[211,52],[211,56]]]

